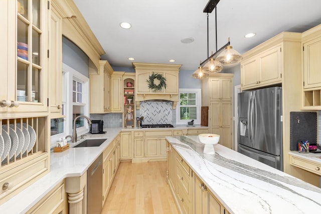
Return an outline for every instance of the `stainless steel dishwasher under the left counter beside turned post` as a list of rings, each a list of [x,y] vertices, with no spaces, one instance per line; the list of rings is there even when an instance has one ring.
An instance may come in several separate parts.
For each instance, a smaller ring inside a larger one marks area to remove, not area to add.
[[[102,209],[102,154],[87,171],[87,213],[101,213]]]

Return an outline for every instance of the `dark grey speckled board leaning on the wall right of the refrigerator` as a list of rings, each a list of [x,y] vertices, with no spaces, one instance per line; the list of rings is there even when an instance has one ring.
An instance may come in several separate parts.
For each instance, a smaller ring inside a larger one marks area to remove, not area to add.
[[[317,142],[316,112],[290,112],[290,151],[298,151],[298,142]]]

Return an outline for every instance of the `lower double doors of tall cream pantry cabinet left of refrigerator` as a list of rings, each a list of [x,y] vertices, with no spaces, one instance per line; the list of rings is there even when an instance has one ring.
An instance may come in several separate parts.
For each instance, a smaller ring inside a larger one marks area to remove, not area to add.
[[[231,102],[211,102],[210,112],[210,132],[213,134],[219,134],[219,143],[232,149]]]

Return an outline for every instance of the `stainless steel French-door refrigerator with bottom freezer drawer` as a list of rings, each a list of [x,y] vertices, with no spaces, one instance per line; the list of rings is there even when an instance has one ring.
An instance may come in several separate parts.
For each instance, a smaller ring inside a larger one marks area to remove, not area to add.
[[[238,94],[238,152],[283,171],[282,88]]]

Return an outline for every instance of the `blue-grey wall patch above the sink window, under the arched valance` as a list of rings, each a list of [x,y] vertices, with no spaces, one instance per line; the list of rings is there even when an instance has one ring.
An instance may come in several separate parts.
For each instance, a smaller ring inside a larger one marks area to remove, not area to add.
[[[62,62],[89,78],[89,58],[73,42],[62,38]]]

